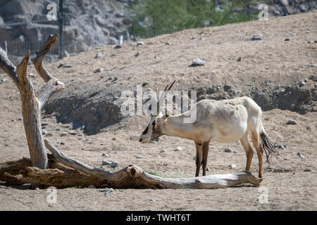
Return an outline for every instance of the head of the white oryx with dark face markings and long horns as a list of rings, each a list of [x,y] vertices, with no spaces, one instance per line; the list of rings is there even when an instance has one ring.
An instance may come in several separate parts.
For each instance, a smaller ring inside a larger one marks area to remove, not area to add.
[[[160,112],[160,105],[162,101],[164,101],[166,91],[170,91],[174,83],[175,81],[170,85],[166,85],[163,94],[161,95],[161,97],[159,98],[159,102],[157,103],[157,112]],[[166,119],[166,117],[168,117],[166,113],[159,113],[159,115],[151,115],[151,120],[149,121],[147,128],[144,129],[141,136],[139,136],[139,142],[147,143],[163,135],[161,132],[161,125],[163,124],[163,121]]]

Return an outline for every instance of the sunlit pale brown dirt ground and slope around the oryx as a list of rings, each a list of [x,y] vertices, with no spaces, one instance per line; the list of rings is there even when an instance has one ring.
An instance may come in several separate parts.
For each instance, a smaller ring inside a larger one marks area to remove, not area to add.
[[[309,78],[317,75],[316,66],[311,66],[317,63],[316,24],[317,11],[313,11],[270,18],[266,22],[185,30],[144,39],[144,46],[124,44],[121,49],[113,49],[114,46],[97,48],[46,64],[46,68],[66,84],[66,89],[73,85],[79,89],[82,85],[85,89],[89,84],[106,83],[109,88],[114,85],[118,90],[135,90],[135,85],[147,80],[148,87],[157,91],[176,79],[180,82],[175,85],[175,90],[184,89],[184,86],[199,89],[227,84],[237,85],[238,95],[243,95],[254,87],[273,89],[278,84],[287,86],[306,79],[303,88],[316,93],[316,78]],[[259,33],[263,34],[261,41],[250,41]],[[290,41],[285,41],[286,37],[290,37]],[[101,51],[106,56],[94,58]],[[137,51],[140,55],[136,57]],[[241,62],[237,62],[239,57]],[[206,65],[189,67],[193,58],[205,60]],[[58,68],[60,63],[73,67]],[[97,68],[104,68],[104,72],[94,73]],[[32,66],[28,72],[36,74]],[[108,82],[108,77],[117,77],[118,81]],[[8,76],[0,74],[2,78]],[[44,83],[39,76],[32,81],[37,89]],[[0,162],[29,157],[23,121],[18,120],[22,117],[20,96],[11,80],[0,84],[0,103]],[[2,183],[0,210],[317,210],[317,113],[313,107],[306,114],[278,108],[263,112],[263,125],[272,141],[286,146],[271,160],[271,169],[264,162],[266,169],[261,187],[268,191],[266,204],[257,200],[261,190],[248,185],[215,190],[123,189],[110,195],[104,195],[98,189],[66,188],[58,189],[57,202],[49,204],[46,202],[49,193],[45,189],[31,190],[27,185],[6,186]],[[116,160],[120,168],[136,164],[164,177],[194,176],[192,141],[168,136],[147,145],[137,141],[148,117],[128,117],[107,127],[107,131],[93,135],[77,128],[77,135],[67,136],[60,134],[74,128],[73,124],[58,124],[54,114],[43,113],[43,117],[42,122],[49,123],[46,131],[52,134],[48,139],[70,158],[87,165],[110,169],[101,166],[101,160]],[[297,124],[288,125],[287,120],[297,120]],[[182,151],[175,151],[177,146],[181,146]],[[231,148],[232,153],[225,153],[224,148]],[[160,153],[163,149],[166,152]],[[102,153],[108,156],[104,157]],[[299,158],[297,153],[304,158]],[[207,175],[242,170],[245,161],[239,142],[211,143]],[[229,169],[231,164],[237,168]],[[273,172],[273,169],[284,169],[285,172]],[[304,169],[311,171],[304,172]],[[251,172],[258,174],[256,154]]]

